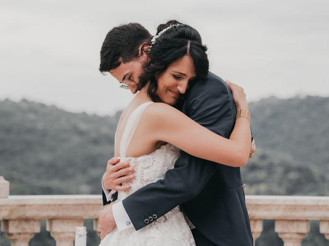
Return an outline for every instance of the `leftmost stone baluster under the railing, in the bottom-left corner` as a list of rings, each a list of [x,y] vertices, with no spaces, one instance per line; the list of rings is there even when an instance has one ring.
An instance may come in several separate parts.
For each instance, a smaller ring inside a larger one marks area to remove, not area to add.
[[[1,230],[11,241],[11,246],[28,246],[34,233],[40,232],[40,220],[3,220]]]

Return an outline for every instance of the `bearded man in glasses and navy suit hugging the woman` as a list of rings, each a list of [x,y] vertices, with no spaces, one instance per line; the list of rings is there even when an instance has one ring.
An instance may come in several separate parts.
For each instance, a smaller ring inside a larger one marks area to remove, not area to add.
[[[129,79],[129,89],[136,93],[150,39],[151,34],[139,24],[113,28],[102,45],[100,71],[111,73],[119,82]],[[234,128],[236,107],[231,91],[213,73],[195,81],[179,108],[223,137],[229,138]],[[168,170],[165,178],[114,203],[117,193],[106,189],[133,177],[124,176],[132,171],[128,163],[112,165],[118,162],[114,159],[109,162],[102,181],[103,204],[109,204],[100,213],[102,238],[116,226],[118,230],[139,230],[180,205],[191,222],[197,245],[253,244],[240,168],[218,165],[181,151],[175,168]],[[117,186],[116,190],[127,188]]]

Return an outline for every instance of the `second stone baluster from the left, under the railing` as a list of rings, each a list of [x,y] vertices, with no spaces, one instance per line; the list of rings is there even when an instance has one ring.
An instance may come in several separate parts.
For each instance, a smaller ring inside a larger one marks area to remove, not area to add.
[[[48,219],[47,231],[56,240],[56,246],[73,246],[76,227],[83,226],[83,219]]]

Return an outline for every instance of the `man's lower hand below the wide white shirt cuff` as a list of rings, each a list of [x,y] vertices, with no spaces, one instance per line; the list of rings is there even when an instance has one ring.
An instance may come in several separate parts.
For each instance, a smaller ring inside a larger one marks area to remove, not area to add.
[[[114,203],[115,201],[111,202],[108,205],[105,205],[103,209],[99,212],[99,229],[101,231],[100,237],[102,240],[117,226],[112,211],[112,206]]]

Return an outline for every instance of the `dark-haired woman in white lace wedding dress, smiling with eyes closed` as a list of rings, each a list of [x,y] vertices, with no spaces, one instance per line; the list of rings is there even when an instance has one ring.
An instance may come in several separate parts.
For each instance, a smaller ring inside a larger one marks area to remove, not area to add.
[[[175,38],[170,38],[172,36]],[[170,41],[170,42],[169,42]],[[237,111],[229,139],[213,133],[181,113],[175,106],[193,81],[208,74],[207,48],[198,32],[184,24],[162,26],[152,39],[149,63],[140,77],[139,93],[123,111],[115,136],[115,155],[129,160],[136,179],[130,190],[119,191],[118,201],[162,179],[183,150],[193,156],[231,167],[246,165],[250,153],[250,114],[243,89],[227,83]],[[130,83],[129,74],[125,81]],[[138,231],[113,230],[101,241],[110,245],[195,245],[179,207]]]

